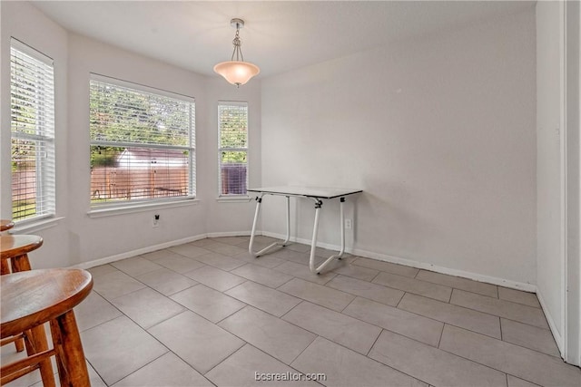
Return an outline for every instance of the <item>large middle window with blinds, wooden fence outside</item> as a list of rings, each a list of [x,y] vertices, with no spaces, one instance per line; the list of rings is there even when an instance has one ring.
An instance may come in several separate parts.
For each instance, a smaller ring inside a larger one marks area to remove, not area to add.
[[[195,197],[191,97],[92,74],[91,204]]]

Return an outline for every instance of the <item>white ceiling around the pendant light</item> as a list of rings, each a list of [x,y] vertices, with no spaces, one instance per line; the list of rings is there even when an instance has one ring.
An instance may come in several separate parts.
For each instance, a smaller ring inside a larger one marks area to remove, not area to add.
[[[232,17],[244,59],[283,73],[532,6],[527,1],[34,1],[69,31],[212,75],[230,60]]]

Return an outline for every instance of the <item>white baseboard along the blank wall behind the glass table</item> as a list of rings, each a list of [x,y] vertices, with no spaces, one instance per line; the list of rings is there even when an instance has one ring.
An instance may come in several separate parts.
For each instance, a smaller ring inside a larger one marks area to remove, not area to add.
[[[271,232],[262,232],[262,235],[265,235],[267,237],[276,237],[279,239],[284,239],[286,237],[282,234],[276,234],[276,233],[271,233]],[[310,245],[309,239],[291,237],[291,241]],[[328,243],[317,243],[317,247],[328,248],[330,250],[340,250],[340,246],[331,245]],[[496,276],[483,276],[483,275],[480,275],[477,273],[451,269],[451,268],[444,267],[444,266],[436,266],[436,265],[426,264],[423,262],[418,262],[418,261],[414,261],[411,259],[402,258],[399,256],[388,256],[386,254],[379,254],[379,253],[375,253],[372,251],[361,250],[359,248],[354,249],[352,247],[345,247],[345,251],[347,253],[354,255],[354,256],[363,256],[366,258],[373,258],[373,259],[377,259],[379,261],[385,261],[385,262],[389,262],[392,264],[399,264],[399,265],[403,265],[403,266],[411,266],[411,267],[416,267],[419,269],[430,270],[430,271],[434,271],[437,273],[446,274],[448,276],[461,276],[463,278],[472,279],[472,280],[478,281],[478,282],[486,282],[487,284],[500,285],[500,286],[504,286],[504,287],[510,287],[512,289],[522,290],[525,292],[537,293],[537,286],[536,285],[526,284],[526,283],[517,282],[517,281],[511,281],[511,280],[507,280],[504,278],[498,278]]]

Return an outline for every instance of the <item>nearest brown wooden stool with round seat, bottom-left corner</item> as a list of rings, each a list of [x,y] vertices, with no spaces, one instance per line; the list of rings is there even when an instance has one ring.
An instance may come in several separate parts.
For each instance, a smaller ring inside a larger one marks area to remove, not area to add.
[[[2,341],[30,332],[25,334],[27,345],[35,346],[34,354],[0,368],[0,384],[40,368],[44,386],[54,386],[54,374],[49,378],[43,373],[43,364],[50,365],[54,355],[61,386],[90,386],[73,308],[91,293],[91,274],[82,269],[31,270],[0,276],[0,289]],[[46,322],[51,326],[52,349],[46,345]]]

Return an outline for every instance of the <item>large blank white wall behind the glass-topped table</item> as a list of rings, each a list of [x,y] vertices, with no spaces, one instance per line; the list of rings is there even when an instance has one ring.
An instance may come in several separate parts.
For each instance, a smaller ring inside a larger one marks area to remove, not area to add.
[[[535,61],[531,7],[267,78],[262,184],[364,189],[356,251],[533,284]],[[266,231],[284,233],[280,202],[264,200]],[[309,238],[312,204],[298,206]]]

